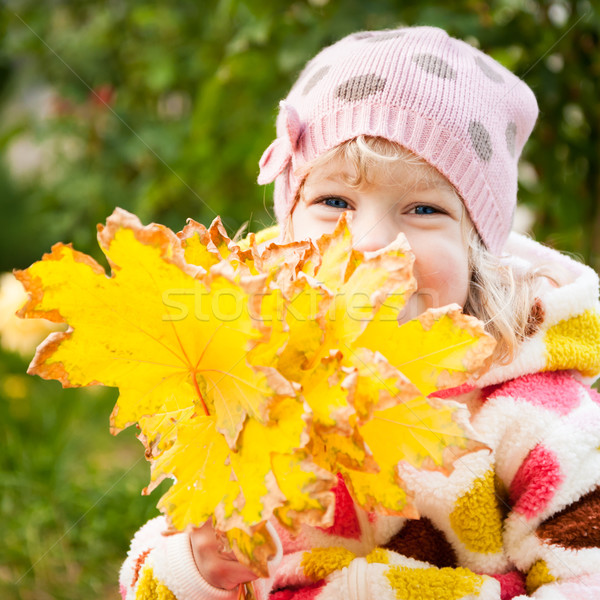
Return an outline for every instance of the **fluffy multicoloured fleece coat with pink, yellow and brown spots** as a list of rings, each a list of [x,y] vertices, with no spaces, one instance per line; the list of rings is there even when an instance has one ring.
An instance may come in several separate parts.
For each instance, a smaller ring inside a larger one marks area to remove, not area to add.
[[[600,396],[588,387],[600,372],[598,277],[514,234],[508,252],[515,268],[550,265],[556,285],[539,294],[516,359],[454,391],[491,452],[449,477],[405,467],[417,520],[366,514],[338,484],[331,528],[278,528],[283,558],[255,582],[259,598],[600,599]],[[203,581],[187,534],[164,529],[159,517],[134,537],[124,599],[236,598]]]

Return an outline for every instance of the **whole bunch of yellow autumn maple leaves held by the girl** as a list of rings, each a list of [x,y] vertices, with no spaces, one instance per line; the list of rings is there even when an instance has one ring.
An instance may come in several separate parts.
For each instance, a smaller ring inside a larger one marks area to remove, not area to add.
[[[178,529],[213,518],[266,572],[266,521],[331,524],[338,474],[367,510],[414,514],[397,464],[449,469],[467,417],[429,394],[494,347],[457,306],[399,324],[415,291],[399,237],[366,257],[345,218],[316,242],[232,242],[216,219],[178,234],[117,209],[99,226],[112,273],[69,245],[17,277],[24,317],[68,324],[30,372],[119,388],[113,432],[137,424],[151,491]]]

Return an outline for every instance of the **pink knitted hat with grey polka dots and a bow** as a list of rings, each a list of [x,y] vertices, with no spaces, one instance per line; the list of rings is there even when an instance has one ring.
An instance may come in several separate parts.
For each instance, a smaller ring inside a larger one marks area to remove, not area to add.
[[[433,165],[499,253],[517,196],[517,161],[537,118],[533,92],[486,54],[434,27],[349,35],[311,60],[280,103],[260,160],[275,214],[290,214],[306,162],[358,135],[386,138]]]

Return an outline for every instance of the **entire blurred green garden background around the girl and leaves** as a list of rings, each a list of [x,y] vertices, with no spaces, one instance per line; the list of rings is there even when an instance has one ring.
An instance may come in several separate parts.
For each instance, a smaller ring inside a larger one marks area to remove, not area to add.
[[[322,46],[437,25],[535,91],[520,177],[525,229],[600,266],[600,15],[588,0],[14,0],[0,7],[0,272],[57,241],[99,257],[115,206],[175,230],[272,222],[255,184],[278,101]],[[7,311],[0,302],[0,310]],[[0,314],[0,323],[2,322]],[[4,315],[6,317],[6,315]],[[6,318],[4,319],[6,320]],[[0,339],[0,597],[116,598],[128,540],[161,491],[114,390],[25,375]],[[25,344],[26,345],[26,344]],[[9,349],[12,347],[13,349]]]

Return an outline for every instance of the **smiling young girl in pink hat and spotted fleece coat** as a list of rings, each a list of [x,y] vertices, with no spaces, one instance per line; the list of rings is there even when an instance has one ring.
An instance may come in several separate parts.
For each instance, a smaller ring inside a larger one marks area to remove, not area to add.
[[[343,483],[334,524],[290,537],[260,598],[600,598],[600,372],[595,273],[510,234],[517,160],[537,117],[531,90],[431,27],[350,35],[319,53],[281,103],[261,159],[284,239],[352,213],[356,246],[406,235],[417,293],[408,319],[456,302],[498,345],[467,402],[491,452],[446,477],[404,467],[420,518],[366,514]],[[235,599],[254,579],[210,524],[133,539],[124,598]]]

